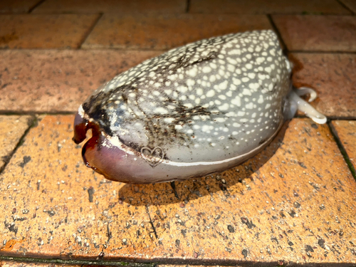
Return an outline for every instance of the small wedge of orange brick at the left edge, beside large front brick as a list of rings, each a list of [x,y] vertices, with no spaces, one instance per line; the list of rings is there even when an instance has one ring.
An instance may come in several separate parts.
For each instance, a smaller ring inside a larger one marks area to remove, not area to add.
[[[0,170],[32,121],[31,116],[0,116]]]

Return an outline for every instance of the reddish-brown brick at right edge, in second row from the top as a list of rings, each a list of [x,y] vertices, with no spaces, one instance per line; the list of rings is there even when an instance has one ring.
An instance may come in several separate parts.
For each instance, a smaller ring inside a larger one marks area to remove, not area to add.
[[[355,16],[273,15],[290,51],[356,51]]]

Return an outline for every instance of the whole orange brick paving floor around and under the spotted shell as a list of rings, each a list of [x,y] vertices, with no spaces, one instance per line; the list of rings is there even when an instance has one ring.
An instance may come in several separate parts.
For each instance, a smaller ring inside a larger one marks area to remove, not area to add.
[[[0,265],[356,265],[354,1],[147,3],[1,1]],[[169,48],[261,28],[281,36],[293,83],[318,92],[328,124],[300,114],[241,166],[175,187],[85,167],[73,114],[98,85]]]

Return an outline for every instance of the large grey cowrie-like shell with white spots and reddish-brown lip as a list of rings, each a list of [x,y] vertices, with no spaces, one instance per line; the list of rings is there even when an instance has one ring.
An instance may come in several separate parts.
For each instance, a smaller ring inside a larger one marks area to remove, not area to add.
[[[266,147],[296,110],[326,117],[298,97],[276,33],[251,31],[172,49],[117,75],[80,105],[75,143],[105,178],[147,184],[202,177]]]

